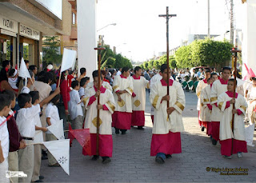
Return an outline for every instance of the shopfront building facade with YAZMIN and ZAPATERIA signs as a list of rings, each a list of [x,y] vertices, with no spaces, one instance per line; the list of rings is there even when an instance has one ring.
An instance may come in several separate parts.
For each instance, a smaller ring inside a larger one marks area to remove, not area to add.
[[[67,0],[0,0],[0,62],[26,58],[42,70],[42,36],[70,35],[70,14]]]

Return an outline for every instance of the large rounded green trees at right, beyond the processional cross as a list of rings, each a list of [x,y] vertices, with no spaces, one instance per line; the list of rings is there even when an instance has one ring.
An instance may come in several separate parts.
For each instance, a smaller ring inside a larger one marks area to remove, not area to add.
[[[232,45],[224,40],[206,38],[180,47],[175,53],[178,68],[192,66],[224,66],[230,60]]]

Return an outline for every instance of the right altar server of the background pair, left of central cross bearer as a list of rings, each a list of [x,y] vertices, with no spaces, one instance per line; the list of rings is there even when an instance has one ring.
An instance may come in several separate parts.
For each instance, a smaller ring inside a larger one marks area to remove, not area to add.
[[[132,76],[134,83],[134,93],[132,95],[133,113],[131,125],[137,125],[138,129],[143,129],[145,125],[145,105],[146,105],[146,88],[149,88],[149,81],[142,77],[142,68],[136,66]]]

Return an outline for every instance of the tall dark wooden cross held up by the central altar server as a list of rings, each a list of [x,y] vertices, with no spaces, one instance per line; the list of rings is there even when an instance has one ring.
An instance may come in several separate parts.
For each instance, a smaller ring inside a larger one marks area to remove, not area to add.
[[[176,14],[169,14],[169,7],[166,6],[166,14],[159,14],[159,17],[166,18],[166,54],[167,54],[167,95],[169,95],[169,79],[170,79],[170,65],[169,65],[169,19],[172,17],[176,17]],[[167,108],[169,108],[169,102],[167,101]]]

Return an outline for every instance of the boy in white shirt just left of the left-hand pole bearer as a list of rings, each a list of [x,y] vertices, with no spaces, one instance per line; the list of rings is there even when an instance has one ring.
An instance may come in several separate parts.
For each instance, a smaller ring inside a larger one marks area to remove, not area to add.
[[[82,114],[82,105],[81,99],[79,97],[79,82],[71,82],[71,87],[73,90],[70,92],[70,101],[69,101],[69,112],[72,129],[82,129],[83,123],[83,114]]]

